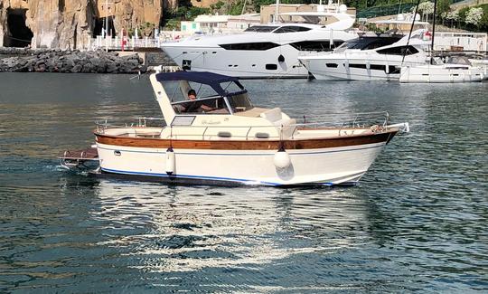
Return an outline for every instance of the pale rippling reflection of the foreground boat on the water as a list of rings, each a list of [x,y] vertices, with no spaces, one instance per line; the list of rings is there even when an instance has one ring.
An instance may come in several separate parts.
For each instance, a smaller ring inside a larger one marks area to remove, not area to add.
[[[138,268],[151,271],[259,267],[368,242],[361,230],[366,225],[361,198],[347,189],[297,192],[102,180],[96,188],[99,209],[91,218],[109,221],[105,229],[115,230],[103,245],[147,256]],[[146,229],[143,234],[116,233],[139,227]]]

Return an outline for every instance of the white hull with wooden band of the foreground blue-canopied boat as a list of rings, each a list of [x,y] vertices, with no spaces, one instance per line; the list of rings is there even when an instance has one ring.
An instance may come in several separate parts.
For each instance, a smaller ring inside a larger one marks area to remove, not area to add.
[[[291,164],[275,166],[279,142],[177,141],[98,138],[104,174],[175,184],[351,185],[359,181],[380,150],[396,134],[324,140],[286,141]],[[255,144],[256,143],[256,144]],[[173,145],[173,173],[167,149]]]

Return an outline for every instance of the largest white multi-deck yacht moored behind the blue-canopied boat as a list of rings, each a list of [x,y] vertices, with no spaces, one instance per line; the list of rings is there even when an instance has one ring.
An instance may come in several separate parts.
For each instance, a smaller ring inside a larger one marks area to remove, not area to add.
[[[332,17],[337,20],[333,24],[260,24],[243,33],[192,36],[162,47],[186,71],[211,71],[242,79],[307,78],[308,71],[297,59],[299,51],[331,51],[357,38],[356,33],[344,32],[354,23],[354,16],[346,11],[345,5],[337,5],[333,12],[299,13]]]

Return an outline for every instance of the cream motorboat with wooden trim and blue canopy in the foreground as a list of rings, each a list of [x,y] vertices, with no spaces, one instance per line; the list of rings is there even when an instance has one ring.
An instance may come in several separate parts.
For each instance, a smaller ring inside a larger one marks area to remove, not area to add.
[[[254,106],[239,79],[212,72],[154,73],[150,81],[164,122],[99,123],[96,175],[174,184],[354,185],[380,150],[408,131],[408,123],[389,124],[386,112],[337,126],[312,117],[297,123],[279,108]],[[195,89],[196,100],[187,100]]]

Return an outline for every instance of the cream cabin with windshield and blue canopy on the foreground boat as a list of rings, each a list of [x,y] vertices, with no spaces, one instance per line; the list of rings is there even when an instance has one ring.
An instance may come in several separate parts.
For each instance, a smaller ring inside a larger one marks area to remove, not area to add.
[[[150,80],[170,127],[162,130],[161,138],[207,138],[211,132],[222,137],[222,129],[234,139],[289,138],[296,130],[296,119],[281,109],[255,107],[235,77],[176,71],[153,74]]]

